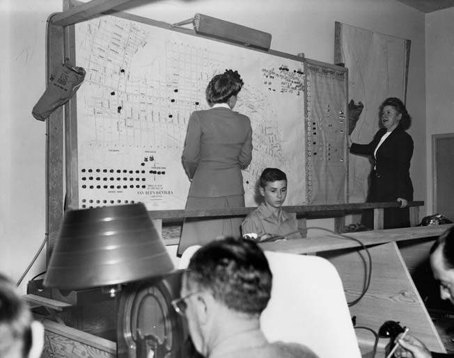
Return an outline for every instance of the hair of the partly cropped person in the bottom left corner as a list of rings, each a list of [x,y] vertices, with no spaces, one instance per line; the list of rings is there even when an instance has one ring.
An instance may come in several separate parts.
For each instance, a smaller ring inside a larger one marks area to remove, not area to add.
[[[0,357],[19,347],[22,357],[31,348],[31,312],[9,279],[0,274]]]

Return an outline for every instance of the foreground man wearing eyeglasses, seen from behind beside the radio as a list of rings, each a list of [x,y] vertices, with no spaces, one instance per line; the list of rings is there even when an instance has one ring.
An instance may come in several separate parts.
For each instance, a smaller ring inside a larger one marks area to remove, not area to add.
[[[196,251],[183,275],[175,310],[187,318],[196,350],[208,358],[317,358],[297,343],[269,343],[260,314],[272,288],[268,261],[253,242],[212,241]]]

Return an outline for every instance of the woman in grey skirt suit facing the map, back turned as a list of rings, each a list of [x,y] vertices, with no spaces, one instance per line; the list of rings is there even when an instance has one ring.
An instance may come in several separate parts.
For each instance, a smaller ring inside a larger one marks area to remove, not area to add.
[[[244,207],[241,170],[251,163],[252,129],[233,111],[243,81],[237,71],[214,76],[206,89],[211,108],[189,117],[182,162],[191,181],[186,209]],[[217,236],[240,236],[242,218],[186,219],[178,254]]]

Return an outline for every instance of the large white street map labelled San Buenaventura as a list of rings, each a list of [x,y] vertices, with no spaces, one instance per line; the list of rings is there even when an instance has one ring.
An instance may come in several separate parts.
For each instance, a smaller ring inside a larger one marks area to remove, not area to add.
[[[304,62],[114,16],[76,26],[79,207],[143,202],[184,209],[189,115],[208,109],[205,88],[226,69],[244,80],[235,111],[249,116],[253,159],[246,206],[266,167],[288,175],[287,205],[306,203]]]

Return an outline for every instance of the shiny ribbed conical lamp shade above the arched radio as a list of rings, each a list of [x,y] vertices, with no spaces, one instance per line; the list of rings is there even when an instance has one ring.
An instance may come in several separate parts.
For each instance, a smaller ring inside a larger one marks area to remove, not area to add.
[[[65,290],[162,275],[173,263],[143,204],[67,211],[44,285]]]

